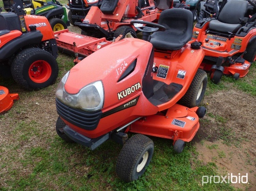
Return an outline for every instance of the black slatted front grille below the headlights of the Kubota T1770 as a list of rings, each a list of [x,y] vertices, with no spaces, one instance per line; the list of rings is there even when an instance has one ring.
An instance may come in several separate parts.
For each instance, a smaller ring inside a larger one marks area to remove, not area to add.
[[[56,98],[57,113],[66,121],[85,130],[94,130],[101,119],[102,111],[86,112],[71,108]]]

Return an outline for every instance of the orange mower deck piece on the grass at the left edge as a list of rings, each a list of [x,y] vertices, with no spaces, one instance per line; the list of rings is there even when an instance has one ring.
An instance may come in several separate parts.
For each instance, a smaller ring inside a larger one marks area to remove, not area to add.
[[[0,115],[12,108],[13,100],[18,99],[18,94],[10,94],[7,88],[0,86]]]

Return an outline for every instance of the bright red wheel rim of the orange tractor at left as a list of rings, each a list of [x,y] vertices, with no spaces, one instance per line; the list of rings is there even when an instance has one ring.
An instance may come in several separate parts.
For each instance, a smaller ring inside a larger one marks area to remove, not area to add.
[[[35,83],[46,82],[52,74],[52,68],[49,63],[44,60],[35,61],[29,67],[29,78]]]

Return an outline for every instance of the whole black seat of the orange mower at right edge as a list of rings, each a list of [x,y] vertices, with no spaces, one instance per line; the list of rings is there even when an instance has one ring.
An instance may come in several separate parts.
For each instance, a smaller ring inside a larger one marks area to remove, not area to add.
[[[209,22],[209,29],[219,32],[235,33],[242,27],[247,12],[247,1],[229,0],[222,8],[218,18]]]

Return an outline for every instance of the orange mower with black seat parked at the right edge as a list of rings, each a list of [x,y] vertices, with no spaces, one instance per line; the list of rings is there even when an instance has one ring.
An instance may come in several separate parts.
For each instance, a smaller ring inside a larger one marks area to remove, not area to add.
[[[245,76],[256,60],[256,13],[248,2],[223,2],[216,18],[202,19],[194,27],[193,39],[205,52],[200,67],[211,72],[214,83],[220,82],[222,74],[235,79]]]

